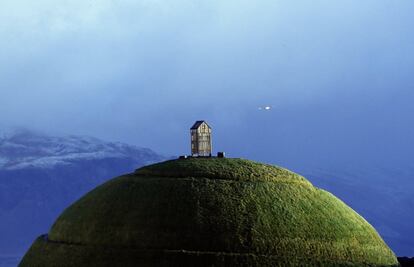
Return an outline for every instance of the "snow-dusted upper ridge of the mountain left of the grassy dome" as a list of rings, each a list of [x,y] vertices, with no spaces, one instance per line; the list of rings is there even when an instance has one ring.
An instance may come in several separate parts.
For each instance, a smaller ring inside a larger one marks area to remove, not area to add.
[[[0,169],[55,168],[83,160],[134,158],[141,163],[157,160],[146,148],[104,142],[93,137],[52,137],[27,130],[0,137]]]

